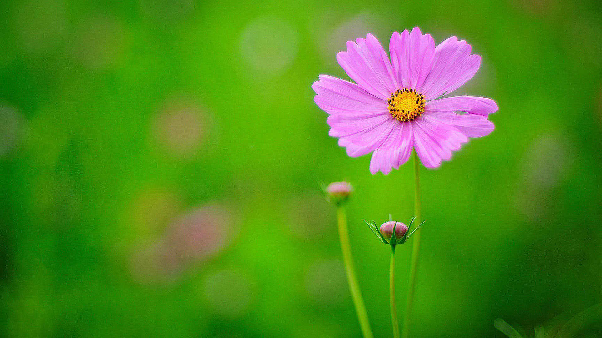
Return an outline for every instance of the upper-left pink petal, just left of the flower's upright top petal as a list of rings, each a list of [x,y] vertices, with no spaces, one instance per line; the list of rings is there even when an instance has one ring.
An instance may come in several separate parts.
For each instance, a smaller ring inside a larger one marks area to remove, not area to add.
[[[374,35],[356,41],[347,41],[347,51],[337,54],[338,63],[368,93],[388,99],[398,87],[389,58]]]

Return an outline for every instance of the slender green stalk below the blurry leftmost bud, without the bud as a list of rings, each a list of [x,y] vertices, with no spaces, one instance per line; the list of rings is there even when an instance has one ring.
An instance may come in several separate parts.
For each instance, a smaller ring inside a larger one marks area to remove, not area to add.
[[[364,338],[373,338],[370,321],[368,321],[368,313],[362,298],[362,292],[359,290],[358,277],[355,274],[355,265],[353,264],[353,256],[351,254],[351,245],[349,242],[349,232],[347,231],[347,215],[343,206],[337,207],[337,221],[339,229],[339,238],[341,240],[341,250],[343,250],[343,262],[345,271],[347,272],[347,282],[349,290],[355,305],[355,312],[358,315],[359,326],[362,329]]]

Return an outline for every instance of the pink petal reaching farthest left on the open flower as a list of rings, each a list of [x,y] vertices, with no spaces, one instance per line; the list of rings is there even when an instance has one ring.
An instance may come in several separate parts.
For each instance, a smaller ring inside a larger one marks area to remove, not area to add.
[[[319,78],[311,86],[317,94],[314,101],[328,114],[370,116],[388,112],[385,100],[377,99],[359,85],[328,75]]]

